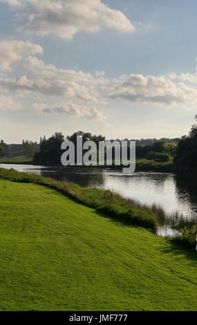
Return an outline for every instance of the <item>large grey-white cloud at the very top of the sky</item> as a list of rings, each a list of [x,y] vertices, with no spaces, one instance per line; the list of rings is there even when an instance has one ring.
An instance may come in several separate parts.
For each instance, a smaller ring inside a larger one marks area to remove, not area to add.
[[[98,32],[115,28],[122,32],[135,30],[131,21],[119,10],[111,9],[101,0],[0,0],[7,2],[17,17],[28,14],[21,30],[40,36],[58,35],[72,39],[77,32]],[[22,9],[22,10],[20,10]]]

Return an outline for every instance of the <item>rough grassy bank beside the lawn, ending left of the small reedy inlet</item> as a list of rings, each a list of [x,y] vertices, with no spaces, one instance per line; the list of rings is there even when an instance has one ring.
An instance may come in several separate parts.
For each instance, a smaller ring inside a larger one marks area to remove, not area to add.
[[[51,178],[26,174],[14,169],[0,169],[0,178],[6,178],[21,183],[37,183],[47,187],[57,189],[75,201],[88,207],[93,207],[100,212],[104,212],[122,223],[140,225],[144,228],[156,232],[158,219],[151,210],[144,209],[140,205],[133,204],[133,201],[122,198],[119,194],[114,194],[109,190],[84,189],[77,184],[59,182]]]

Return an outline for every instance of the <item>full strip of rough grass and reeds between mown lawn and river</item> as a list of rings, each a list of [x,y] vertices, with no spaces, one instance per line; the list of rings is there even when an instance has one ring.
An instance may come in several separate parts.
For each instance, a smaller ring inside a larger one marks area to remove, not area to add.
[[[26,174],[15,169],[1,169],[0,178],[20,183],[36,183],[45,185],[59,192],[66,194],[78,203],[104,212],[113,219],[126,225],[139,225],[151,232],[156,233],[159,225],[169,225],[179,230],[182,234],[173,237],[171,240],[182,243],[187,248],[196,247],[196,219],[185,219],[180,214],[167,214],[159,205],[151,206],[142,204],[130,198],[123,198],[120,194],[103,189],[86,189],[74,183],[66,183],[43,178],[41,176]]]

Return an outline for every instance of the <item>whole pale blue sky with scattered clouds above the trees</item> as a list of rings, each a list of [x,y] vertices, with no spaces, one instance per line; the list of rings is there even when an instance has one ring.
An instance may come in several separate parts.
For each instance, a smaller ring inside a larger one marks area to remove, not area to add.
[[[197,113],[195,0],[0,0],[0,138],[176,138]]]

